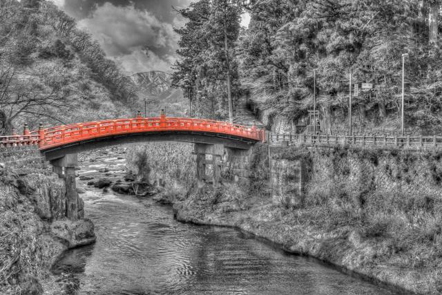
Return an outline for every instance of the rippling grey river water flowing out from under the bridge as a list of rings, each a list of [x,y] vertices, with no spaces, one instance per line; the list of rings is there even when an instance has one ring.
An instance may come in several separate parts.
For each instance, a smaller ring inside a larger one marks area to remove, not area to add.
[[[393,294],[235,229],[177,222],[150,199],[99,189],[82,198],[97,242],[54,269],[74,274],[79,294]]]

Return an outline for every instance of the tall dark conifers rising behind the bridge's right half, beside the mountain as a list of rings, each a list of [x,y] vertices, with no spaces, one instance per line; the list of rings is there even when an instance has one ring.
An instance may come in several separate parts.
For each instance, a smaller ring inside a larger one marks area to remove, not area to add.
[[[238,96],[238,69],[234,43],[240,30],[241,8],[231,0],[200,0],[179,13],[189,19],[180,35],[173,86],[191,99],[197,117],[228,116],[229,84]]]

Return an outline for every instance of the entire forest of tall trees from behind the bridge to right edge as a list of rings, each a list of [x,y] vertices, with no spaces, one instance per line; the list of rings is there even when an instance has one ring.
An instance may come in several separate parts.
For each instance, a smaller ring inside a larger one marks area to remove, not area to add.
[[[175,29],[173,84],[196,116],[232,119],[247,96],[297,124],[313,109],[316,84],[323,132],[345,133],[352,73],[355,126],[396,132],[407,54],[407,133],[442,131],[439,0],[200,0],[177,12],[188,22]],[[372,89],[355,95],[362,83]]]

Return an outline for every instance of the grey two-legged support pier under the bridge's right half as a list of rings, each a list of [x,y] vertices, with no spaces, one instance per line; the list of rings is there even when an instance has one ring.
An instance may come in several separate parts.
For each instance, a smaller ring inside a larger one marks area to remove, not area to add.
[[[222,144],[195,144],[196,166],[198,185],[202,186],[206,182],[206,164],[212,166],[212,183],[214,187],[220,185],[222,155],[224,155],[224,145]],[[212,155],[211,160],[206,160],[206,155]]]

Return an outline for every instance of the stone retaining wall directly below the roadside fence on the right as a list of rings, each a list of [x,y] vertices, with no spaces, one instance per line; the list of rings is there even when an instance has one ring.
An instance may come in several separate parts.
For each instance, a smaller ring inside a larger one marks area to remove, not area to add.
[[[271,167],[276,202],[288,196],[410,220],[442,203],[441,151],[290,146],[273,149]]]

